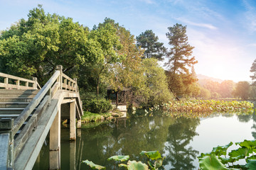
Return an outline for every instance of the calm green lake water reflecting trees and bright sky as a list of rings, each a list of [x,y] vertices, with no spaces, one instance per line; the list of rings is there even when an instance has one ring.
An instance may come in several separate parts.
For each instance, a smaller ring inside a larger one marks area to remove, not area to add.
[[[61,169],[88,169],[81,163],[86,159],[107,169],[117,169],[107,158],[128,154],[130,160],[146,160],[139,155],[142,150],[158,150],[166,157],[165,169],[198,169],[197,156],[201,152],[229,142],[254,140],[256,115],[213,114],[201,119],[174,119],[131,114],[114,123],[78,130],[75,142],[69,141],[69,128],[63,126],[61,135]],[[48,160],[46,140],[33,169],[48,169]]]

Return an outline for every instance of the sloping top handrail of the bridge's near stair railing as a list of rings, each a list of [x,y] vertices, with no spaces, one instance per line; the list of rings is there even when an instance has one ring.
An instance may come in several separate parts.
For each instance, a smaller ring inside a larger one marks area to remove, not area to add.
[[[60,75],[60,71],[56,71],[52,77],[47,81],[47,83],[43,86],[43,88],[36,94],[36,96],[33,98],[31,103],[28,104],[28,106],[21,112],[21,115],[16,118],[14,121],[14,134],[18,132],[18,129],[21,128],[21,125],[25,122],[25,120],[28,118],[28,116],[32,113],[32,111],[38,106],[40,101],[43,99],[44,96],[48,93],[51,86],[54,84],[58,76]]]

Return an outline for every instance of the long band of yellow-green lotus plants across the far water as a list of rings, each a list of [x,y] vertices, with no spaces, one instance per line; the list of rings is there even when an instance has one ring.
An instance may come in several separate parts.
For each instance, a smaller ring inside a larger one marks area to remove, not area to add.
[[[169,101],[163,104],[166,114],[188,118],[196,118],[209,115],[213,112],[219,113],[252,113],[253,103],[249,101],[215,101],[215,100],[181,100]],[[201,114],[203,113],[203,114]]]

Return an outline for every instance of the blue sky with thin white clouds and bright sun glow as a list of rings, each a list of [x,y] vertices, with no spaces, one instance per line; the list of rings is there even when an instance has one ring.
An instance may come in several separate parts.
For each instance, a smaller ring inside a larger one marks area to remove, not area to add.
[[[112,18],[136,36],[153,30],[169,48],[168,27],[187,26],[188,43],[195,47],[196,74],[233,81],[251,81],[256,59],[255,0],[0,0],[0,30],[42,4],[92,28]]]

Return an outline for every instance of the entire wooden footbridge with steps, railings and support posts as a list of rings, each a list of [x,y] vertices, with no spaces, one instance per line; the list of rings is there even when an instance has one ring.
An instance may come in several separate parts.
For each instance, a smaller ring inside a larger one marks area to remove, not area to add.
[[[32,169],[50,132],[50,169],[60,169],[60,120],[70,120],[70,140],[81,125],[82,102],[76,79],[58,65],[42,87],[0,73],[0,169]]]

